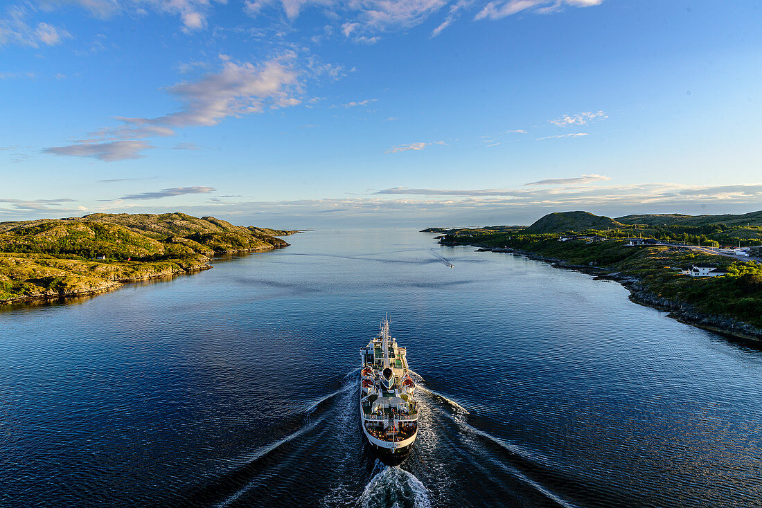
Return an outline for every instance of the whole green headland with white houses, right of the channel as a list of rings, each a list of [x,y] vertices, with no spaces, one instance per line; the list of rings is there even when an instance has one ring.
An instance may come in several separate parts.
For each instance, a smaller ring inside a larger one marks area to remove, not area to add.
[[[426,228],[443,245],[515,252],[616,280],[630,299],[696,326],[762,340],[762,211],[743,215],[556,212],[528,226]]]

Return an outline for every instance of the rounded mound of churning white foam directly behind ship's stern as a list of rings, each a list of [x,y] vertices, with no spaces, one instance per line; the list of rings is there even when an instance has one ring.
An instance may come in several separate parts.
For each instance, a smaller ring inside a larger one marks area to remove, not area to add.
[[[373,468],[375,472],[379,462]],[[428,490],[418,478],[399,467],[381,465],[379,473],[365,486],[360,496],[363,508],[431,508]]]

